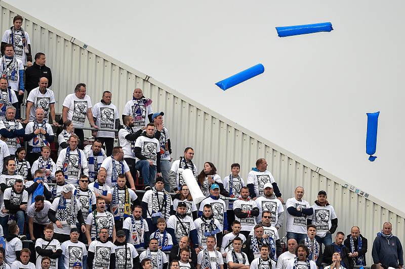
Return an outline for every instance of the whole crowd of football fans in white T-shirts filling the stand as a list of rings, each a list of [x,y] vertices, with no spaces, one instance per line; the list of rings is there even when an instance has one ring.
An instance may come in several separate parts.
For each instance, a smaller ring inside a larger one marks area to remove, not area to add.
[[[0,268],[366,265],[369,244],[359,227],[333,238],[338,216],[326,191],[320,190],[311,205],[297,186],[284,201],[264,158],[246,183],[237,163],[224,178],[211,162],[198,170],[191,146],[172,159],[165,114],[152,111],[152,100],[140,88],[120,117],[110,91],[93,105],[86,84],[78,83],[65,97],[57,122],[51,69],[45,53],[32,59],[22,22],[15,16],[1,43]],[[95,140],[84,146],[80,127],[86,119]],[[114,146],[115,138],[120,146]],[[206,196],[198,204],[180,173],[184,169],[192,171]],[[282,226],[286,249],[278,233]],[[27,240],[33,243],[23,248]],[[382,224],[371,255],[373,269],[402,268],[401,242],[389,222]]]

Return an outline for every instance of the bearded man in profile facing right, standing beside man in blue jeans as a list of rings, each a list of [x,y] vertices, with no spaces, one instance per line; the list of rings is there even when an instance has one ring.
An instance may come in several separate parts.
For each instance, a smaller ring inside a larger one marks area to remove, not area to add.
[[[124,159],[130,168],[132,178],[136,178],[135,169],[135,141],[146,127],[134,132],[134,118],[125,116],[123,119],[124,128],[118,131],[119,145],[123,147]]]

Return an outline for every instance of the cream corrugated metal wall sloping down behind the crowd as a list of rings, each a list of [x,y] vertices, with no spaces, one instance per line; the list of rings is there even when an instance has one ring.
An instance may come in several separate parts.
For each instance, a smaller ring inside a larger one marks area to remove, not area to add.
[[[134,88],[140,87],[144,95],[153,100],[153,111],[165,112],[165,126],[169,129],[173,147],[172,157],[177,158],[186,146],[192,146],[196,153],[194,163],[200,170],[204,162],[210,161],[225,177],[229,174],[230,165],[237,162],[245,179],[250,168],[255,166],[256,159],[264,157],[285,200],[294,196],[296,186],[305,188],[304,199],[311,204],[319,190],[326,190],[339,219],[338,231],[347,234],[352,226],[357,225],[369,239],[369,264],[372,242],[383,222],[391,222],[393,233],[403,242],[405,214],[401,209],[393,208],[375,197],[365,198],[350,191],[344,187],[346,182],[343,180],[259,137],[254,131],[238,126],[146,74],[7,3],[1,2],[1,6],[2,32],[12,25],[13,17],[19,14],[25,19],[23,28],[30,35],[33,55],[38,51],[46,53],[47,66],[52,68],[53,73],[52,89],[56,95],[57,112],[62,112],[64,97],[73,92],[78,82],[87,84],[93,104],[100,100],[103,90],[110,90],[113,103],[120,112],[131,99]],[[284,227],[280,234],[284,235]]]

